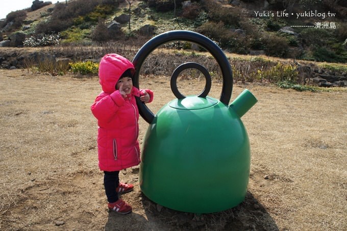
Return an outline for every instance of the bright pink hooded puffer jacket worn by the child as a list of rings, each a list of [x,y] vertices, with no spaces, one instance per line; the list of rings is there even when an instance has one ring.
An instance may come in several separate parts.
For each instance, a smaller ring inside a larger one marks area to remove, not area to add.
[[[133,86],[131,94],[123,98],[116,83],[126,70],[134,73],[134,65],[117,54],[105,55],[99,65],[99,82],[103,91],[96,97],[91,111],[97,119],[98,166],[102,171],[119,171],[140,163],[139,113],[135,96],[146,91],[153,100],[151,90]]]

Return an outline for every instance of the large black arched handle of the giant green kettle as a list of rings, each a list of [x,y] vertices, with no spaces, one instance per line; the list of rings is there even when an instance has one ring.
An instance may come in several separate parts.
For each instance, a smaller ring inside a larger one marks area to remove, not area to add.
[[[139,88],[140,70],[147,56],[150,55],[153,52],[153,50],[155,50],[158,46],[172,41],[193,42],[208,50],[208,52],[217,61],[222,72],[223,83],[222,92],[220,94],[219,100],[225,105],[228,105],[229,100],[231,98],[231,93],[233,91],[233,73],[231,70],[230,63],[224,52],[220,49],[220,47],[217,44],[215,44],[211,39],[207,38],[206,36],[192,31],[169,31],[157,35],[152,39],[148,40],[139,49],[132,61],[135,66],[133,85]],[[138,97],[136,98],[136,104],[142,118],[148,123],[152,123],[154,119],[153,112],[150,109],[148,109],[147,106]]]

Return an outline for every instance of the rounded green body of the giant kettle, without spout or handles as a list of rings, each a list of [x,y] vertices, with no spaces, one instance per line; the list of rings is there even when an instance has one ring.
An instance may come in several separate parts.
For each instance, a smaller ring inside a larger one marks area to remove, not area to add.
[[[209,102],[201,109],[175,107],[197,100]],[[244,199],[250,163],[249,139],[233,110],[210,97],[175,99],[158,111],[147,129],[140,187],[170,209],[223,211]]]

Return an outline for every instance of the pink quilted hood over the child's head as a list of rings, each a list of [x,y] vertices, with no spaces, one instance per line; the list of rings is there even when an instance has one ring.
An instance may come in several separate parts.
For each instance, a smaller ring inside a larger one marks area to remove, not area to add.
[[[103,91],[114,92],[120,76],[128,69],[134,74],[134,65],[128,59],[117,54],[105,55],[99,64],[99,83]]]

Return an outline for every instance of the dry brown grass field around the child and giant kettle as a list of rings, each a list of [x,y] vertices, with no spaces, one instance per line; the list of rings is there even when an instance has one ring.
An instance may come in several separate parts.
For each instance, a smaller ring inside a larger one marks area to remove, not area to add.
[[[0,83],[2,230],[347,229],[346,91],[235,85],[232,98],[249,88],[259,100],[242,117],[252,151],[245,200],[201,216],[160,210],[141,194],[133,168],[121,179],[135,184],[122,196],[134,210],[118,215],[106,210],[96,166],[97,125],[89,107],[101,90],[97,78],[0,70]],[[186,79],[179,86],[199,92],[202,83]],[[154,90],[154,112],[174,98],[166,78],[148,76],[140,86]],[[209,95],[219,98],[220,89],[214,82]],[[146,127],[140,119],[140,141]]]

